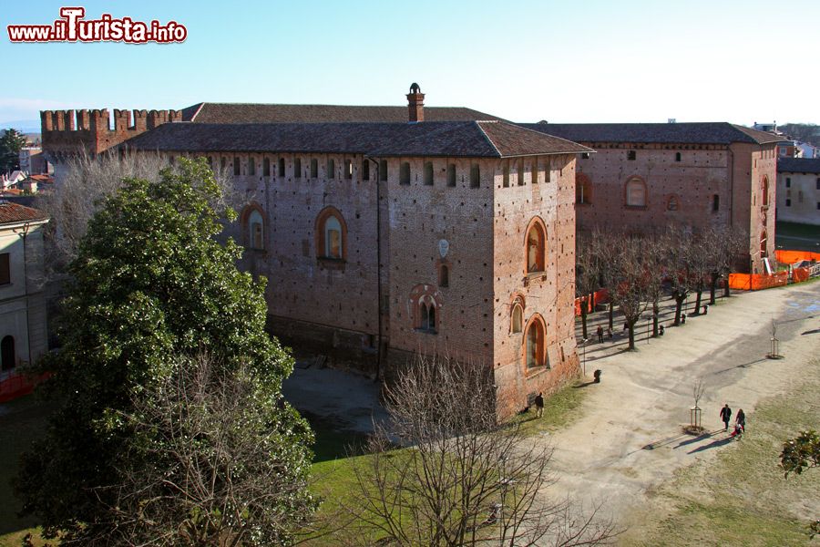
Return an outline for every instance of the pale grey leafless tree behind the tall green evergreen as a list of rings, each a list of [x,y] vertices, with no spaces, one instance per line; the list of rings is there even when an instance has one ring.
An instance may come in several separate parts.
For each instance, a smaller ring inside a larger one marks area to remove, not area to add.
[[[65,175],[52,191],[38,197],[37,207],[51,217],[46,239],[46,264],[49,274],[59,276],[67,263],[77,255],[77,246],[86,234],[88,221],[97,212],[99,203],[124,186],[129,178],[157,182],[161,170],[174,169],[169,159],[156,152],[109,152],[91,157],[77,155],[67,160]],[[231,178],[225,172],[215,173],[220,185],[217,210],[235,208],[241,204]]]

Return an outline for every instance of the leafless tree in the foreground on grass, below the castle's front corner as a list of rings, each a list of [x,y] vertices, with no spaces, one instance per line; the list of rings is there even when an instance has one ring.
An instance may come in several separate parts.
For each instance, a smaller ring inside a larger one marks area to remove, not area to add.
[[[551,449],[497,426],[489,366],[417,357],[385,388],[391,417],[356,470],[354,544],[596,545],[597,508],[548,501]],[[397,449],[396,445],[405,448]]]

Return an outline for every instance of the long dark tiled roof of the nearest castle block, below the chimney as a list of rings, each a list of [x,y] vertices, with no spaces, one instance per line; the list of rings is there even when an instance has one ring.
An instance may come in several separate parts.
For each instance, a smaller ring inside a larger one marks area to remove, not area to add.
[[[121,146],[179,152],[361,153],[501,158],[591,151],[503,121],[421,123],[166,123]]]

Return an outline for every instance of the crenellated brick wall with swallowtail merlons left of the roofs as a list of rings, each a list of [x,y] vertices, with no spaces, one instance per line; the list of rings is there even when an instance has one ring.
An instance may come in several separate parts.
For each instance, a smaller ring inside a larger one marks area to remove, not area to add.
[[[113,119],[108,108],[40,111],[43,150],[52,156],[82,151],[98,154],[174,121],[182,121],[181,110],[115,108]]]

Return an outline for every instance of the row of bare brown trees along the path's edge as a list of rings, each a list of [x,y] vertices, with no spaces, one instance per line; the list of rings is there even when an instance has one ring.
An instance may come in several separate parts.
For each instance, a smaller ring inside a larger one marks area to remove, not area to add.
[[[728,280],[737,257],[747,242],[728,227],[711,227],[695,233],[671,226],[655,235],[617,232],[579,232],[576,249],[576,296],[581,299],[581,323],[588,338],[587,315],[592,294],[607,289],[610,294],[610,328],[618,306],[629,329],[629,347],[635,348],[635,325],[651,308],[652,335],[659,333],[661,299],[675,300],[674,325],[681,322],[682,306],[695,294],[695,313],[709,290],[714,304],[721,279]],[[725,295],[729,284],[724,283]]]

